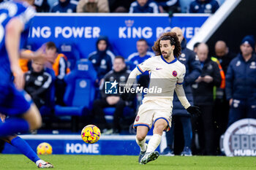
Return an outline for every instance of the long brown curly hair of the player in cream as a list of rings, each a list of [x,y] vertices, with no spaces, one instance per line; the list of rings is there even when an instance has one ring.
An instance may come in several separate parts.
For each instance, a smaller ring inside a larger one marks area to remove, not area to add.
[[[181,55],[181,44],[178,41],[178,36],[176,35],[175,32],[167,32],[162,34],[162,36],[160,36],[156,42],[154,42],[154,46],[152,47],[152,50],[154,50],[154,53],[156,55],[161,55],[161,50],[160,50],[160,41],[161,40],[170,40],[170,45],[174,45],[175,48],[173,50],[173,55],[176,56],[176,58],[178,58],[179,55]]]

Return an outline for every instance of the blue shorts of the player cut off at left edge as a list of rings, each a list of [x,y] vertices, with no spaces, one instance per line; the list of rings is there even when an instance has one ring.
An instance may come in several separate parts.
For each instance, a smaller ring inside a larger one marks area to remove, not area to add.
[[[29,110],[31,103],[30,96],[24,90],[17,90],[12,82],[0,83],[1,113],[9,116],[22,115]]]

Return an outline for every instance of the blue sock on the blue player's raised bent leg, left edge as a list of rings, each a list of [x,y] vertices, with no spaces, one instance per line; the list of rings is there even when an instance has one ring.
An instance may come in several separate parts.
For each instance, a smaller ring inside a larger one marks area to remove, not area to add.
[[[4,123],[0,122],[0,137],[12,136],[13,134],[29,131],[29,123],[18,117],[10,117]]]

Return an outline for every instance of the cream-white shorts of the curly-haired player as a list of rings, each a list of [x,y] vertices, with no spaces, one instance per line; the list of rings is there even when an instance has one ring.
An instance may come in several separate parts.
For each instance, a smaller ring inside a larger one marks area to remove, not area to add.
[[[171,99],[145,97],[143,104],[139,107],[133,127],[136,128],[139,125],[144,125],[150,129],[157,120],[164,119],[168,125],[166,131],[169,131],[172,120],[172,109],[173,104]]]

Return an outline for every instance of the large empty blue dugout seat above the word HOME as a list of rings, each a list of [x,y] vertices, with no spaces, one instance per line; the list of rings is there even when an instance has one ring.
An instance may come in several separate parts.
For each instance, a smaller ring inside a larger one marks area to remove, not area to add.
[[[66,107],[57,105],[55,114],[57,116],[81,116],[92,109],[95,95],[95,81],[97,73],[91,61],[83,59],[77,61],[75,69],[64,77],[67,88],[64,94]]]

